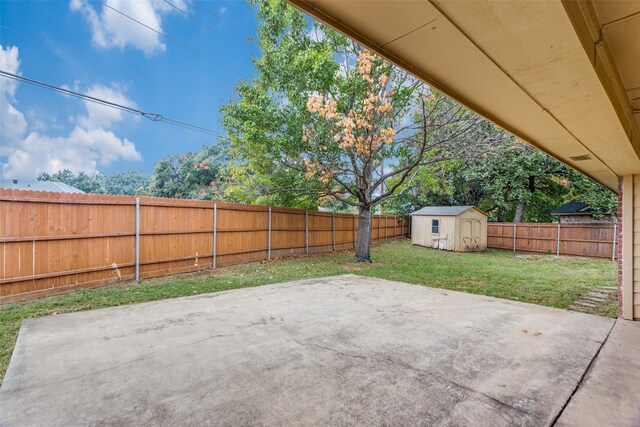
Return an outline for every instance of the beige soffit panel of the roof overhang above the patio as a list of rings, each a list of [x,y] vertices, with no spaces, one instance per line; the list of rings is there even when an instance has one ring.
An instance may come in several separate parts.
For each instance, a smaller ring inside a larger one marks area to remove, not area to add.
[[[289,1],[611,189],[640,173],[560,0]]]

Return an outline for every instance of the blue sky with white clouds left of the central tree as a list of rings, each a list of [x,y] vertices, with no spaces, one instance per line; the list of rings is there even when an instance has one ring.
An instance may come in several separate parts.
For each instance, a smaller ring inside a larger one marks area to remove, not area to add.
[[[0,68],[223,133],[219,109],[239,80],[251,78],[259,54],[247,41],[255,37],[255,11],[245,1],[169,1],[206,27],[164,0],[105,3],[200,55],[99,1],[2,1]],[[0,84],[3,180],[61,168],[151,173],[167,154],[216,142],[26,83]]]

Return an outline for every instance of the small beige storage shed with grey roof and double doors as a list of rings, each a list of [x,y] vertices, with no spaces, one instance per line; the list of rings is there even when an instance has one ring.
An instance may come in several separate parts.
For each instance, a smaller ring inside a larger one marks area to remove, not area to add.
[[[411,214],[411,243],[455,252],[487,248],[487,215],[474,206],[428,206]]]

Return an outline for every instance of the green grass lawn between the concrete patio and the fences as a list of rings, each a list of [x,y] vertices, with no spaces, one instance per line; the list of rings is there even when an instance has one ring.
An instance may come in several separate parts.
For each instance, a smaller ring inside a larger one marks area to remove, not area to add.
[[[352,252],[289,258],[5,304],[0,306],[0,381],[22,321],[33,317],[346,273],[566,308],[593,288],[614,286],[616,278],[615,264],[606,260],[498,250],[452,253],[406,240],[376,246],[372,257],[373,264],[353,262]],[[598,314],[615,317],[616,310],[612,302]]]

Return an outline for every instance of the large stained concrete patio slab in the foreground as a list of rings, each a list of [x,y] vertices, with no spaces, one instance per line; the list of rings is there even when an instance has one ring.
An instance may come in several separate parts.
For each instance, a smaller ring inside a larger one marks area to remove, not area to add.
[[[547,425],[613,323],[353,275],[27,320],[0,425]]]

